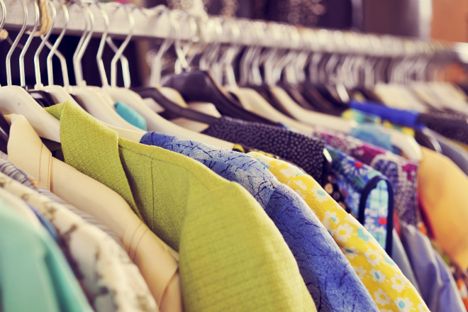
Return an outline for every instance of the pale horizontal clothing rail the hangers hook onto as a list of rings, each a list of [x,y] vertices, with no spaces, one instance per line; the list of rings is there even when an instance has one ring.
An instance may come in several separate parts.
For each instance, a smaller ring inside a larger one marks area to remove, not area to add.
[[[60,33],[64,27],[64,17],[62,9],[57,1],[54,1],[57,8],[57,19],[53,33]],[[28,28],[34,24],[33,4],[28,4]],[[19,30],[23,23],[23,9],[21,1],[5,0],[6,5],[6,30]],[[99,4],[109,18],[108,35],[113,38],[125,38],[128,35],[128,22],[126,11],[111,4]],[[133,39],[169,38],[172,36],[171,22],[169,15],[155,9],[137,9],[133,7],[135,18],[135,28],[133,29]],[[89,4],[89,9],[94,15],[94,36],[98,37],[105,30],[104,19],[99,9],[94,4]],[[82,35],[84,31],[84,13],[77,4],[68,6],[69,24],[67,35]],[[169,11],[169,10],[168,10]],[[170,12],[170,11],[169,11]],[[189,17],[186,15],[186,17]],[[115,21],[119,21],[116,23]],[[191,40],[194,38],[194,18],[178,18],[181,40]],[[225,23],[228,21],[228,23]],[[233,23],[238,27],[238,35],[234,35]],[[217,23],[217,24],[216,24]],[[295,28],[285,24],[251,21],[246,19],[222,20],[216,16],[204,16],[196,21],[198,26],[203,26],[204,43],[234,43],[238,45],[260,45],[268,48],[289,49],[291,47],[301,50],[311,50],[319,52],[356,53],[360,55],[387,56],[387,57],[440,57],[443,60],[453,60],[468,63],[468,44],[452,45],[440,43],[437,40],[415,40],[410,38],[399,38],[391,35],[373,35],[352,32],[342,32],[340,30],[325,30],[313,28]],[[216,26],[217,25],[217,26]],[[222,33],[219,35],[219,26]],[[216,34],[216,27],[218,33]],[[283,31],[289,36],[285,38],[274,38],[275,33]],[[252,35],[257,33],[257,36]],[[270,37],[267,37],[270,33]],[[242,34],[242,35],[240,35]],[[299,35],[299,37],[297,36]],[[264,36],[268,40],[258,40]],[[333,40],[330,40],[333,38]]]

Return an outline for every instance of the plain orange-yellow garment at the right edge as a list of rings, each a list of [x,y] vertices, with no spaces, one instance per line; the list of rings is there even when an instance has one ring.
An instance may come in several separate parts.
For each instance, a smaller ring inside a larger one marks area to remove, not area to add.
[[[468,177],[452,160],[421,147],[418,192],[435,240],[468,269]]]

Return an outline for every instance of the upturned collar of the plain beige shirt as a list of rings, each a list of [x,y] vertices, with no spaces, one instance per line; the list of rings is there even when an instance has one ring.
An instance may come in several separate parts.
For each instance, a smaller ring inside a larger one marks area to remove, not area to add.
[[[11,114],[6,118],[11,121],[8,161],[50,189],[52,153],[24,116]]]

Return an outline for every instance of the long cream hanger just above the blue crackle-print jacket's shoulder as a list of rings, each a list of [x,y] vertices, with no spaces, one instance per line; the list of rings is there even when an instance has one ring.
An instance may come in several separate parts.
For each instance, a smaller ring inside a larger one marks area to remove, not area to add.
[[[122,57],[124,60],[124,62],[122,62],[122,65],[124,67],[123,73],[129,72],[129,69],[125,68],[128,66],[128,62],[125,61],[125,57],[121,55],[120,53],[119,55],[116,54],[114,57],[119,57],[119,56]],[[105,81],[107,81],[105,72],[101,72],[101,77],[103,77]],[[127,79],[128,79],[128,82],[130,83],[130,75],[128,75]],[[112,81],[116,82],[116,79],[113,79]],[[105,82],[103,82],[103,84],[105,84]],[[128,106],[133,108],[135,111],[140,113],[140,115],[145,118],[145,121],[147,124],[147,130],[149,131],[165,133],[167,135],[174,135],[184,140],[196,140],[201,143],[216,146],[219,148],[224,148],[227,150],[232,150],[234,147],[234,143],[230,143],[224,140],[219,140],[217,138],[211,138],[208,135],[204,135],[201,133],[188,130],[186,128],[182,128],[181,126],[177,126],[177,124],[167,121],[165,118],[162,118],[157,113],[155,113],[155,111],[153,111],[150,107],[148,107],[147,104],[145,104],[145,102],[141,98],[141,96],[139,96],[134,91],[131,91],[126,88],[118,88],[116,86],[110,86],[110,87],[107,86],[105,87],[105,90],[106,92],[108,92],[108,94],[110,94],[110,96],[113,98],[114,101],[122,101],[123,103],[127,104]],[[123,137],[121,133],[119,133],[119,136]]]

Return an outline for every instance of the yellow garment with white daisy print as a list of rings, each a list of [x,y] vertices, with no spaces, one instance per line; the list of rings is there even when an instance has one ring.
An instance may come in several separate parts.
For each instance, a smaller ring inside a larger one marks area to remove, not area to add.
[[[429,311],[414,286],[354,217],[346,213],[313,177],[293,165],[258,152],[255,157],[272,174],[298,193],[316,213],[352,264],[381,311]],[[402,307],[403,306],[403,307]],[[427,310],[423,310],[426,308]]]

